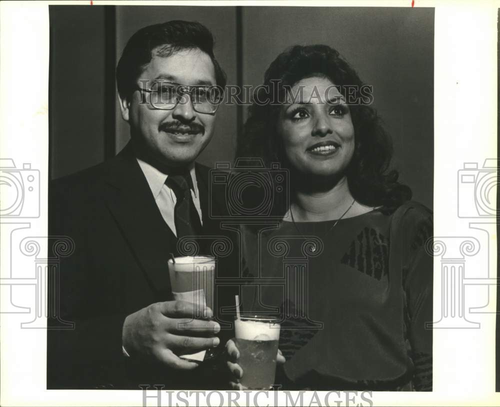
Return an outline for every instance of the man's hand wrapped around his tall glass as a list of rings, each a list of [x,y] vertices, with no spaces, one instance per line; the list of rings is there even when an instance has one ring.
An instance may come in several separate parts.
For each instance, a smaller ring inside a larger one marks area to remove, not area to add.
[[[204,319],[193,319],[193,315],[203,315]],[[207,320],[211,316],[211,309],[201,304],[156,302],[125,318],[121,336],[123,347],[132,357],[157,360],[175,369],[193,369],[197,363],[177,355],[219,344],[214,334],[220,326]]]

